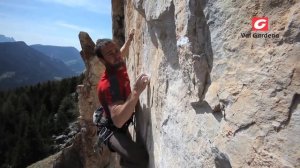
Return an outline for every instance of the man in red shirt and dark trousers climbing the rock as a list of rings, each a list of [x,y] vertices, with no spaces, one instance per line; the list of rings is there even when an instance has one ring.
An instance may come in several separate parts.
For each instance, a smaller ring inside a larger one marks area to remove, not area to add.
[[[111,137],[105,138],[105,144],[111,151],[120,154],[122,167],[147,167],[147,150],[135,143],[128,131],[139,95],[149,83],[147,75],[141,74],[131,91],[123,57],[133,36],[134,32],[131,31],[121,50],[110,39],[97,40],[95,53],[106,67],[98,83],[98,98],[103,106],[104,116],[110,121],[107,128],[112,131]]]

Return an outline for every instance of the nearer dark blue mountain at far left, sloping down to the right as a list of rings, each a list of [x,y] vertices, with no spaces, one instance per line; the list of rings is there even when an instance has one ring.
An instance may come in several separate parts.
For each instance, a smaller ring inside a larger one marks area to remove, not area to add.
[[[75,76],[62,61],[50,58],[25,42],[0,43],[0,90]]]

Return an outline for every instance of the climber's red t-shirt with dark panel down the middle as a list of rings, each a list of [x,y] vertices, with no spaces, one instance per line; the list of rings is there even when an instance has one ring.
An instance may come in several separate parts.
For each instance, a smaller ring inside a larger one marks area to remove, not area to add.
[[[109,115],[108,105],[117,101],[126,101],[131,93],[130,81],[125,64],[118,70],[108,72],[105,70],[98,83],[98,98]]]

